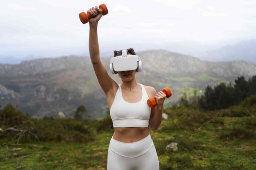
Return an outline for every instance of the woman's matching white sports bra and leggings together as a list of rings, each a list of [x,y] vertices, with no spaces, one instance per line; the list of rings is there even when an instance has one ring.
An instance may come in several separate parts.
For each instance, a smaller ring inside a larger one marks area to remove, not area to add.
[[[142,98],[137,103],[123,99],[119,84],[114,102],[110,108],[113,127],[148,127],[151,108],[147,105],[147,93],[141,84]],[[150,134],[134,143],[110,140],[108,149],[108,170],[159,170],[157,152]]]

